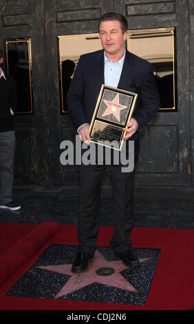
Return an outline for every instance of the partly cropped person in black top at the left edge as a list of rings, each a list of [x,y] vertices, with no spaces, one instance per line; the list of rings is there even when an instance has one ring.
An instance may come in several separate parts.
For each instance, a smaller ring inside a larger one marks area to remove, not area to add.
[[[0,64],[3,51],[0,49]],[[19,210],[12,200],[14,183],[15,133],[13,115],[17,107],[17,87],[13,77],[0,68],[0,208]]]

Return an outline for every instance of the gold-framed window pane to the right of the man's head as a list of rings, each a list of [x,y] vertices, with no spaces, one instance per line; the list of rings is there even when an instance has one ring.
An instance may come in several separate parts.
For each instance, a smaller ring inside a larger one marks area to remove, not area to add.
[[[161,98],[160,110],[177,110],[175,94],[175,30],[158,28],[129,30],[130,52],[153,65]]]

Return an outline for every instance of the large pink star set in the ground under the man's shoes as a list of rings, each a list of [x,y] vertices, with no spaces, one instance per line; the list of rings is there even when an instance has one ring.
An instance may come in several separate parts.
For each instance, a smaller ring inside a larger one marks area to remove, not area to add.
[[[139,259],[139,261],[142,263],[149,259],[151,258]],[[46,265],[39,266],[39,268],[70,276],[67,283],[63,285],[61,291],[56,294],[55,298],[60,298],[70,292],[75,292],[91,283],[102,283],[103,285],[110,285],[122,290],[138,292],[120,273],[128,269],[129,266],[124,265],[122,261],[107,261],[98,250],[96,251],[93,261],[89,263],[88,269],[84,272],[72,272],[72,264]]]

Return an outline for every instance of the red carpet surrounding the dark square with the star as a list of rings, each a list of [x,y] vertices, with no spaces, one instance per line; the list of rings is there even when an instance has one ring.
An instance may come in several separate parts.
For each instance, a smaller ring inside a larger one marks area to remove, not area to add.
[[[112,227],[100,227],[108,246]],[[162,249],[144,305],[89,303],[6,296],[50,244],[76,245],[76,226],[58,223],[0,224],[0,310],[191,310],[194,306],[194,231],[133,228],[133,247]]]

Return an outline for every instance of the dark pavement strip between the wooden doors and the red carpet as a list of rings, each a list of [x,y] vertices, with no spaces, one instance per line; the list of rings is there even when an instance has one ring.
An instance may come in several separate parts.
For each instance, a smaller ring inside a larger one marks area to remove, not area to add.
[[[76,225],[78,187],[43,188],[15,186],[14,200],[21,210],[0,210],[0,223],[56,221]],[[100,225],[112,226],[111,188],[103,187]],[[194,229],[194,190],[187,188],[135,188],[134,227]]]

